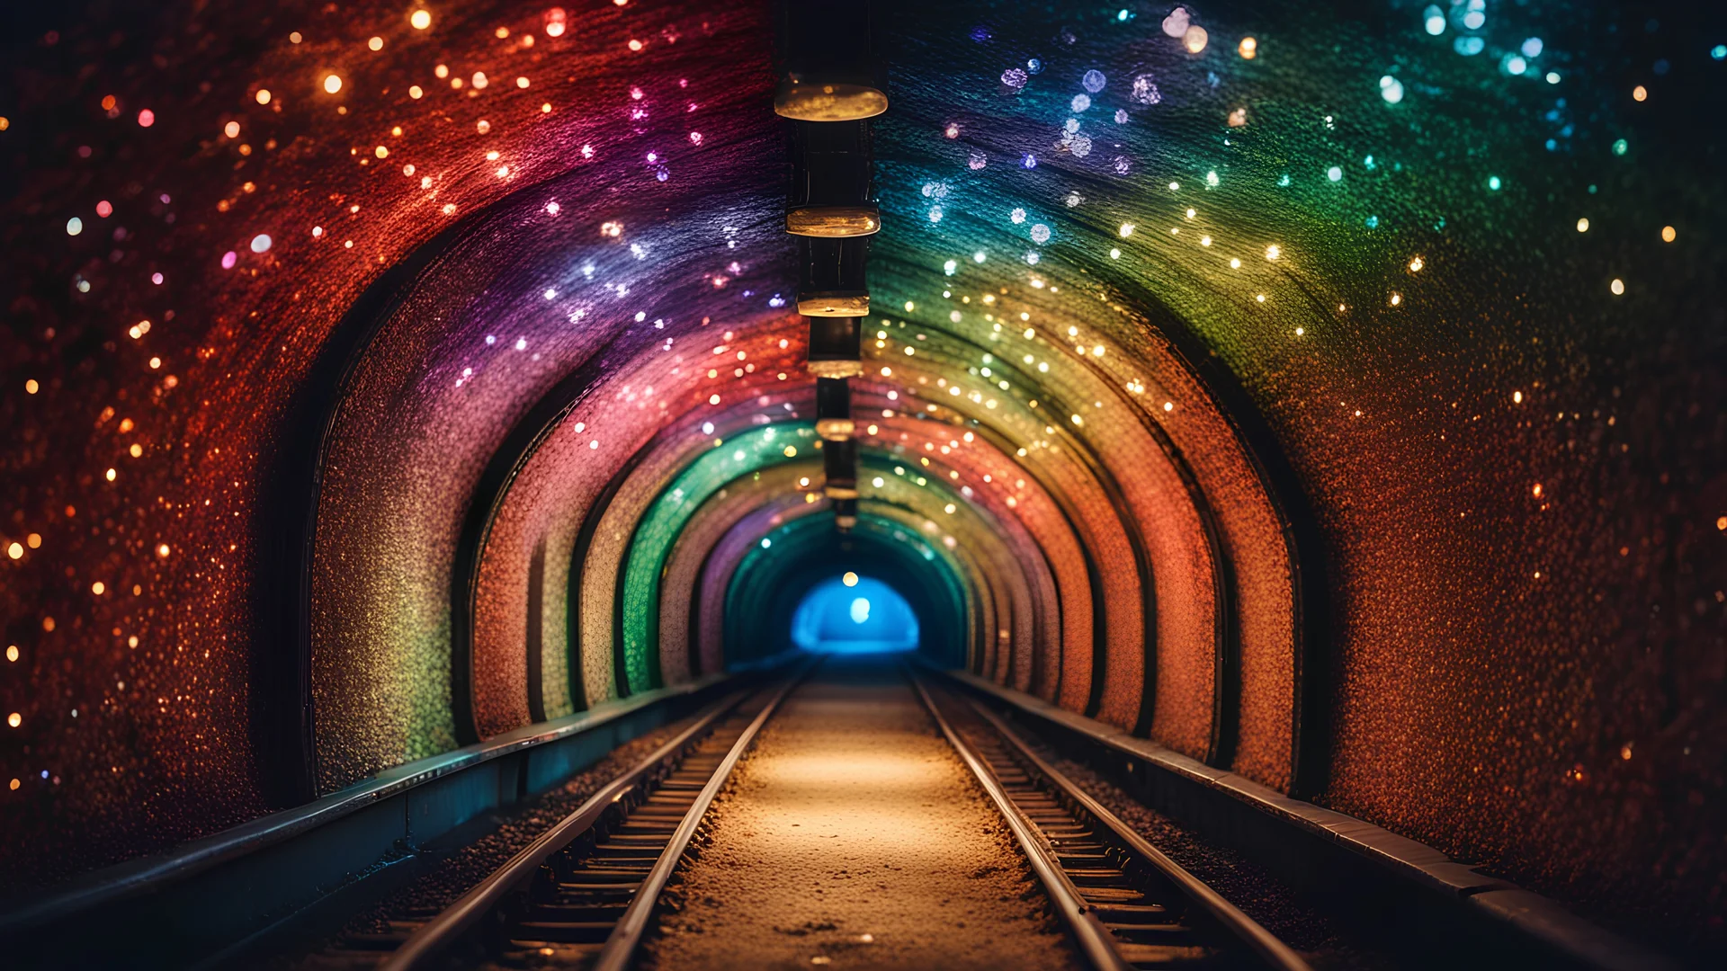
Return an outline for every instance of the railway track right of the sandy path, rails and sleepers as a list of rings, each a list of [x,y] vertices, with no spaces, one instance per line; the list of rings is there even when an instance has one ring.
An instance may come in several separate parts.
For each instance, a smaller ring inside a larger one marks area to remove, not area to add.
[[[1007,819],[1091,968],[1276,968],[1307,962],[1062,776],[993,712],[933,688],[924,707]]]

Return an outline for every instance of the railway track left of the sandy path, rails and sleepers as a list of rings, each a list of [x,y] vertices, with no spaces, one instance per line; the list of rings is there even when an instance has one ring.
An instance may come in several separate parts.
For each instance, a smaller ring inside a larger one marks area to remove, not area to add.
[[[449,907],[390,914],[302,968],[629,968],[713,796],[808,672],[722,698]]]

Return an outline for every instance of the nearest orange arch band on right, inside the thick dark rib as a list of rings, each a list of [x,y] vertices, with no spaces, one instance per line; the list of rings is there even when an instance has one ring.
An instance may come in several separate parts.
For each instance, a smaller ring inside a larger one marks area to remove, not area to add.
[[[912,266],[898,257],[891,240],[879,259],[889,280],[888,287],[900,289],[900,292],[929,292],[936,285],[953,287],[953,280],[943,280],[939,270]],[[996,292],[1007,290],[1000,276],[986,273],[984,280],[984,285],[974,294],[983,292],[993,297]],[[1038,271],[1033,280],[1053,289],[1062,285],[1055,268]],[[1057,283],[1050,283],[1050,280],[1057,280]],[[1029,292],[1022,282],[1015,287],[1015,294]],[[1254,416],[1254,409],[1249,408],[1243,415],[1226,409],[1226,401],[1235,401],[1233,406],[1242,408],[1240,401],[1228,392],[1228,382],[1233,378],[1219,373],[1211,354],[1197,358],[1207,361],[1205,368],[1190,363],[1195,358],[1183,352],[1181,346],[1171,339],[1171,333],[1181,337],[1186,325],[1161,311],[1161,304],[1148,292],[1142,290],[1136,295],[1145,302],[1124,302],[1117,297],[1117,302],[1109,306],[1110,316],[1124,314],[1133,321],[1128,330],[1100,328],[1095,321],[1071,314],[1050,314],[1029,299],[1019,306],[1040,314],[1038,320],[1048,330],[1079,327],[1085,330],[1086,344],[1105,347],[1107,352],[1102,358],[1085,354],[1066,358],[1078,358],[1078,373],[1086,375],[1088,380],[1104,378],[1105,385],[1126,387],[1135,392],[1116,394],[1114,401],[1126,404],[1133,420],[1157,439],[1159,449],[1171,458],[1181,487],[1197,499],[1195,515],[1202,524],[1204,544],[1216,565],[1212,596],[1218,605],[1211,632],[1214,638],[1211,691],[1214,717],[1209,719],[1211,731],[1204,750],[1207,760],[1233,764],[1238,771],[1250,772],[1271,784],[1292,786],[1297,767],[1302,764],[1297,752],[1304,731],[1300,727],[1304,719],[1300,672],[1318,663],[1306,660],[1307,648],[1304,644],[1323,641],[1318,631],[1323,629],[1326,612],[1325,605],[1309,605],[1316,591],[1323,593],[1323,584],[1314,584],[1314,577],[1321,575],[1323,570],[1309,563],[1306,586],[1302,581],[1299,537],[1311,537],[1314,524],[1311,518],[1302,520],[1302,517],[1292,517],[1285,511],[1306,506],[1299,489],[1290,496],[1290,479],[1276,480],[1268,472],[1268,461],[1262,454],[1275,453],[1264,444],[1271,441],[1269,435],[1250,439],[1242,430],[1262,427],[1262,422]],[[907,314],[907,318],[903,323],[914,333],[938,335],[952,330],[948,323],[929,316]],[[1150,323],[1154,318],[1155,325]],[[1000,328],[1000,323],[996,327]],[[1047,340],[1041,328],[1036,340],[1019,340],[1017,330],[1017,327],[1007,327],[995,332],[1003,346],[1012,347],[1010,354],[1031,352],[1045,358],[1053,371],[1062,371],[1067,366],[1064,354],[1052,352],[1052,346],[1059,347],[1060,344]],[[889,330],[889,335],[893,333],[898,330]],[[1124,342],[1124,337],[1131,337],[1131,340]],[[1197,342],[1186,340],[1186,344]],[[903,368],[905,359],[893,351],[895,347],[865,347],[867,356],[874,356],[886,366]],[[996,359],[1005,356],[996,351]],[[1098,359],[1105,366],[1095,365]],[[976,373],[976,365],[972,370]],[[1223,392],[1216,387],[1219,380],[1224,382]],[[1012,384],[1015,389],[1021,387],[1019,382]],[[1040,389],[1041,385],[1033,380],[1026,387]],[[960,401],[964,403],[964,399]],[[1157,401],[1180,403],[1180,406],[1174,413],[1161,411],[1154,404]],[[943,404],[950,403],[943,401]],[[1074,413],[1078,415],[1079,409]],[[1066,430],[1059,423],[1055,427]],[[1098,461],[1107,460],[1100,458]],[[1273,454],[1269,466],[1278,466],[1276,454]],[[1226,496],[1228,501],[1211,501],[1212,491]],[[1223,510],[1221,515],[1214,511],[1218,508]],[[1180,574],[1181,570],[1173,572]],[[1243,679],[1247,691],[1242,689]],[[1247,745],[1247,748],[1242,750],[1240,745]],[[1200,750],[1190,750],[1190,753],[1199,755]],[[1318,784],[1323,779],[1325,757],[1309,755],[1307,765],[1316,772],[1311,781]]]

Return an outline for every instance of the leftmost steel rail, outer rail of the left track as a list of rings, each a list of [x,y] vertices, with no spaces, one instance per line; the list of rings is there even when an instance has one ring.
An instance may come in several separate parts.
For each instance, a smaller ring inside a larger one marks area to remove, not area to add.
[[[463,933],[478,923],[492,909],[499,907],[516,888],[534,878],[541,866],[573,843],[582,833],[592,829],[608,809],[627,796],[642,779],[660,769],[703,733],[713,727],[722,717],[731,714],[750,696],[750,691],[737,691],[715,703],[701,719],[680,731],[675,738],[655,748],[651,755],[637,762],[632,769],[608,783],[587,798],[575,812],[563,817],[551,829],[527,845],[504,866],[492,871],[459,900],[439,912],[423,926],[416,928],[395,952],[378,966],[378,971],[409,971],[421,968],[428,959],[454,945]]]

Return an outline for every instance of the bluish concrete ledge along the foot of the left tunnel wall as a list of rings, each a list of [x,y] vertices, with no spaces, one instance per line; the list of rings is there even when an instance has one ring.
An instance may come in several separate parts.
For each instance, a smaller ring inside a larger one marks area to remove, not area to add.
[[[83,874],[48,895],[10,900],[0,911],[0,940],[10,942],[9,957],[21,957],[21,966],[138,966],[140,954],[150,955],[147,966],[197,962],[330,893],[349,895],[376,874],[401,873],[440,836],[561,784],[743,681],[739,672],[718,674],[608,701]]]

